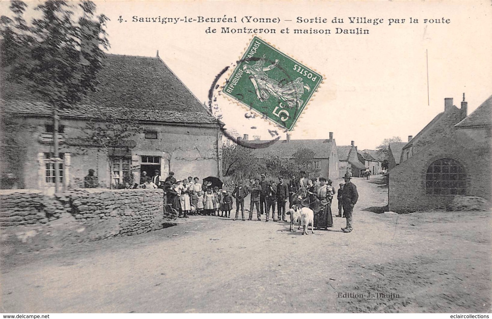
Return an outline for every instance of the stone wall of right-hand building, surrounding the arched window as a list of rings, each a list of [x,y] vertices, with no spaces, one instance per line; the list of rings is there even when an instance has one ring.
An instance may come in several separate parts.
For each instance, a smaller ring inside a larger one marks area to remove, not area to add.
[[[458,161],[466,174],[466,193],[491,199],[491,144],[485,135],[472,138],[461,131],[443,137],[389,172],[389,210],[408,213],[446,209],[454,195],[426,194],[426,173],[434,160]]]

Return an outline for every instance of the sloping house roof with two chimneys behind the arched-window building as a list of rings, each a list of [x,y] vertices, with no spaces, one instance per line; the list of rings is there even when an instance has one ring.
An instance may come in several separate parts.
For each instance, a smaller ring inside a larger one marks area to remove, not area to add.
[[[400,163],[408,160],[437,139],[450,134],[455,124],[466,117],[468,104],[461,102],[461,108],[453,105],[452,98],[444,99],[444,112],[437,114],[415,137],[408,136],[408,143],[401,150]]]

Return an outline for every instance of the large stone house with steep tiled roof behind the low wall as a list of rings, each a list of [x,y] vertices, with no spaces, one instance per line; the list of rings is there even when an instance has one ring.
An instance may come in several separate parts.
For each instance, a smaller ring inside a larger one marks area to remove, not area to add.
[[[140,181],[146,171],[163,178],[221,174],[221,124],[158,57],[108,54],[97,75],[97,91],[59,111],[62,189],[81,186],[89,169],[102,186]],[[55,182],[52,107],[22,85],[1,79],[0,109],[18,122],[18,145],[3,145],[3,188],[39,188]],[[86,140],[87,122],[100,125],[132,117],[143,128],[121,148],[107,150]],[[107,121],[107,122],[104,122]],[[22,154],[17,161],[5,160]]]

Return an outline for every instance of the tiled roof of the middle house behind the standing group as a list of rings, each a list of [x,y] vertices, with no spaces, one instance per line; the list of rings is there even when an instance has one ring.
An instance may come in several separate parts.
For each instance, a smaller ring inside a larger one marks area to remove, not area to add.
[[[264,143],[267,141],[250,141],[252,143]],[[329,139],[291,139],[279,140],[269,147],[253,149],[256,159],[264,159],[267,154],[277,154],[281,158],[290,159],[300,148],[308,148],[314,152],[315,159],[328,159],[332,154],[334,142]]]

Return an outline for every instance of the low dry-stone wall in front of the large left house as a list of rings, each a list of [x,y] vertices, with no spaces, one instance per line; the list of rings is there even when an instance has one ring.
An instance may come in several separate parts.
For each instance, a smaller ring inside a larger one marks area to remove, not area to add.
[[[1,190],[1,243],[7,250],[38,250],[161,229],[162,198],[162,189],[77,189],[51,197]]]

